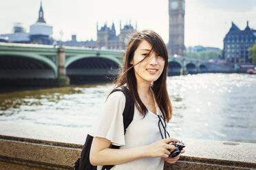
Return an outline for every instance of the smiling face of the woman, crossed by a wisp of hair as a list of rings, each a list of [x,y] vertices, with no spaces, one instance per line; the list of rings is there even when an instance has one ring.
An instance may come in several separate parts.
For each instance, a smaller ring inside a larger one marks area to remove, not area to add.
[[[142,40],[138,48],[134,51],[134,58],[130,64],[134,64],[134,73],[136,80],[140,82],[155,82],[158,80],[164,69],[164,58],[158,56],[155,51],[151,52],[151,56],[145,58],[152,46],[147,40]],[[145,60],[143,60],[145,58]],[[142,62],[140,62],[143,60]],[[137,64],[140,62],[139,64]],[[137,65],[136,65],[137,64]]]

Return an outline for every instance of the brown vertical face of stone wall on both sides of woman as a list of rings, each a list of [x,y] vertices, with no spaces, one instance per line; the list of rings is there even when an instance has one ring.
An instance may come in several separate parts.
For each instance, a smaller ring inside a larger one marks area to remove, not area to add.
[[[58,145],[59,144],[59,145]],[[73,169],[83,145],[0,136],[0,165],[5,169]],[[190,153],[192,154],[192,153]],[[255,161],[255,160],[253,160]],[[255,169],[255,162],[182,156],[171,169]]]

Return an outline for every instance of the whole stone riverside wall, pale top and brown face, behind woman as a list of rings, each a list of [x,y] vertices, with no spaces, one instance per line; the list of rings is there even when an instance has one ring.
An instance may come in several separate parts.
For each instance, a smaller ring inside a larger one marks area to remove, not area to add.
[[[86,130],[0,123],[0,169],[73,169]],[[256,169],[256,144],[179,138],[186,152],[169,169]]]

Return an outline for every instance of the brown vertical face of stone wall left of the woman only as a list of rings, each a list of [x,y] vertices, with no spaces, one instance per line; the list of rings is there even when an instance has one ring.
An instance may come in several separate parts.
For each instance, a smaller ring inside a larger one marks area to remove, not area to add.
[[[21,138],[19,141],[10,139],[10,136],[1,136],[0,138],[0,160],[17,165],[26,165],[28,167],[37,167],[43,169],[72,169],[74,159],[78,158],[81,148],[58,145],[32,143]],[[52,143],[48,141],[47,143]],[[47,168],[50,167],[50,168]]]

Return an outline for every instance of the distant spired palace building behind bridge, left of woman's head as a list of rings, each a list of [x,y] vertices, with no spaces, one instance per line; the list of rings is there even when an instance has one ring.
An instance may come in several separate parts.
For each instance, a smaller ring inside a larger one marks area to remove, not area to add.
[[[107,27],[107,23],[98,29],[97,24],[97,40],[77,41],[76,35],[72,35],[72,40],[63,42],[63,45],[74,47],[89,47],[98,49],[125,49],[127,42],[132,33],[136,32],[136,28],[131,25],[131,22],[123,28],[120,23],[120,34],[116,35],[116,27],[112,23],[111,27]]]

